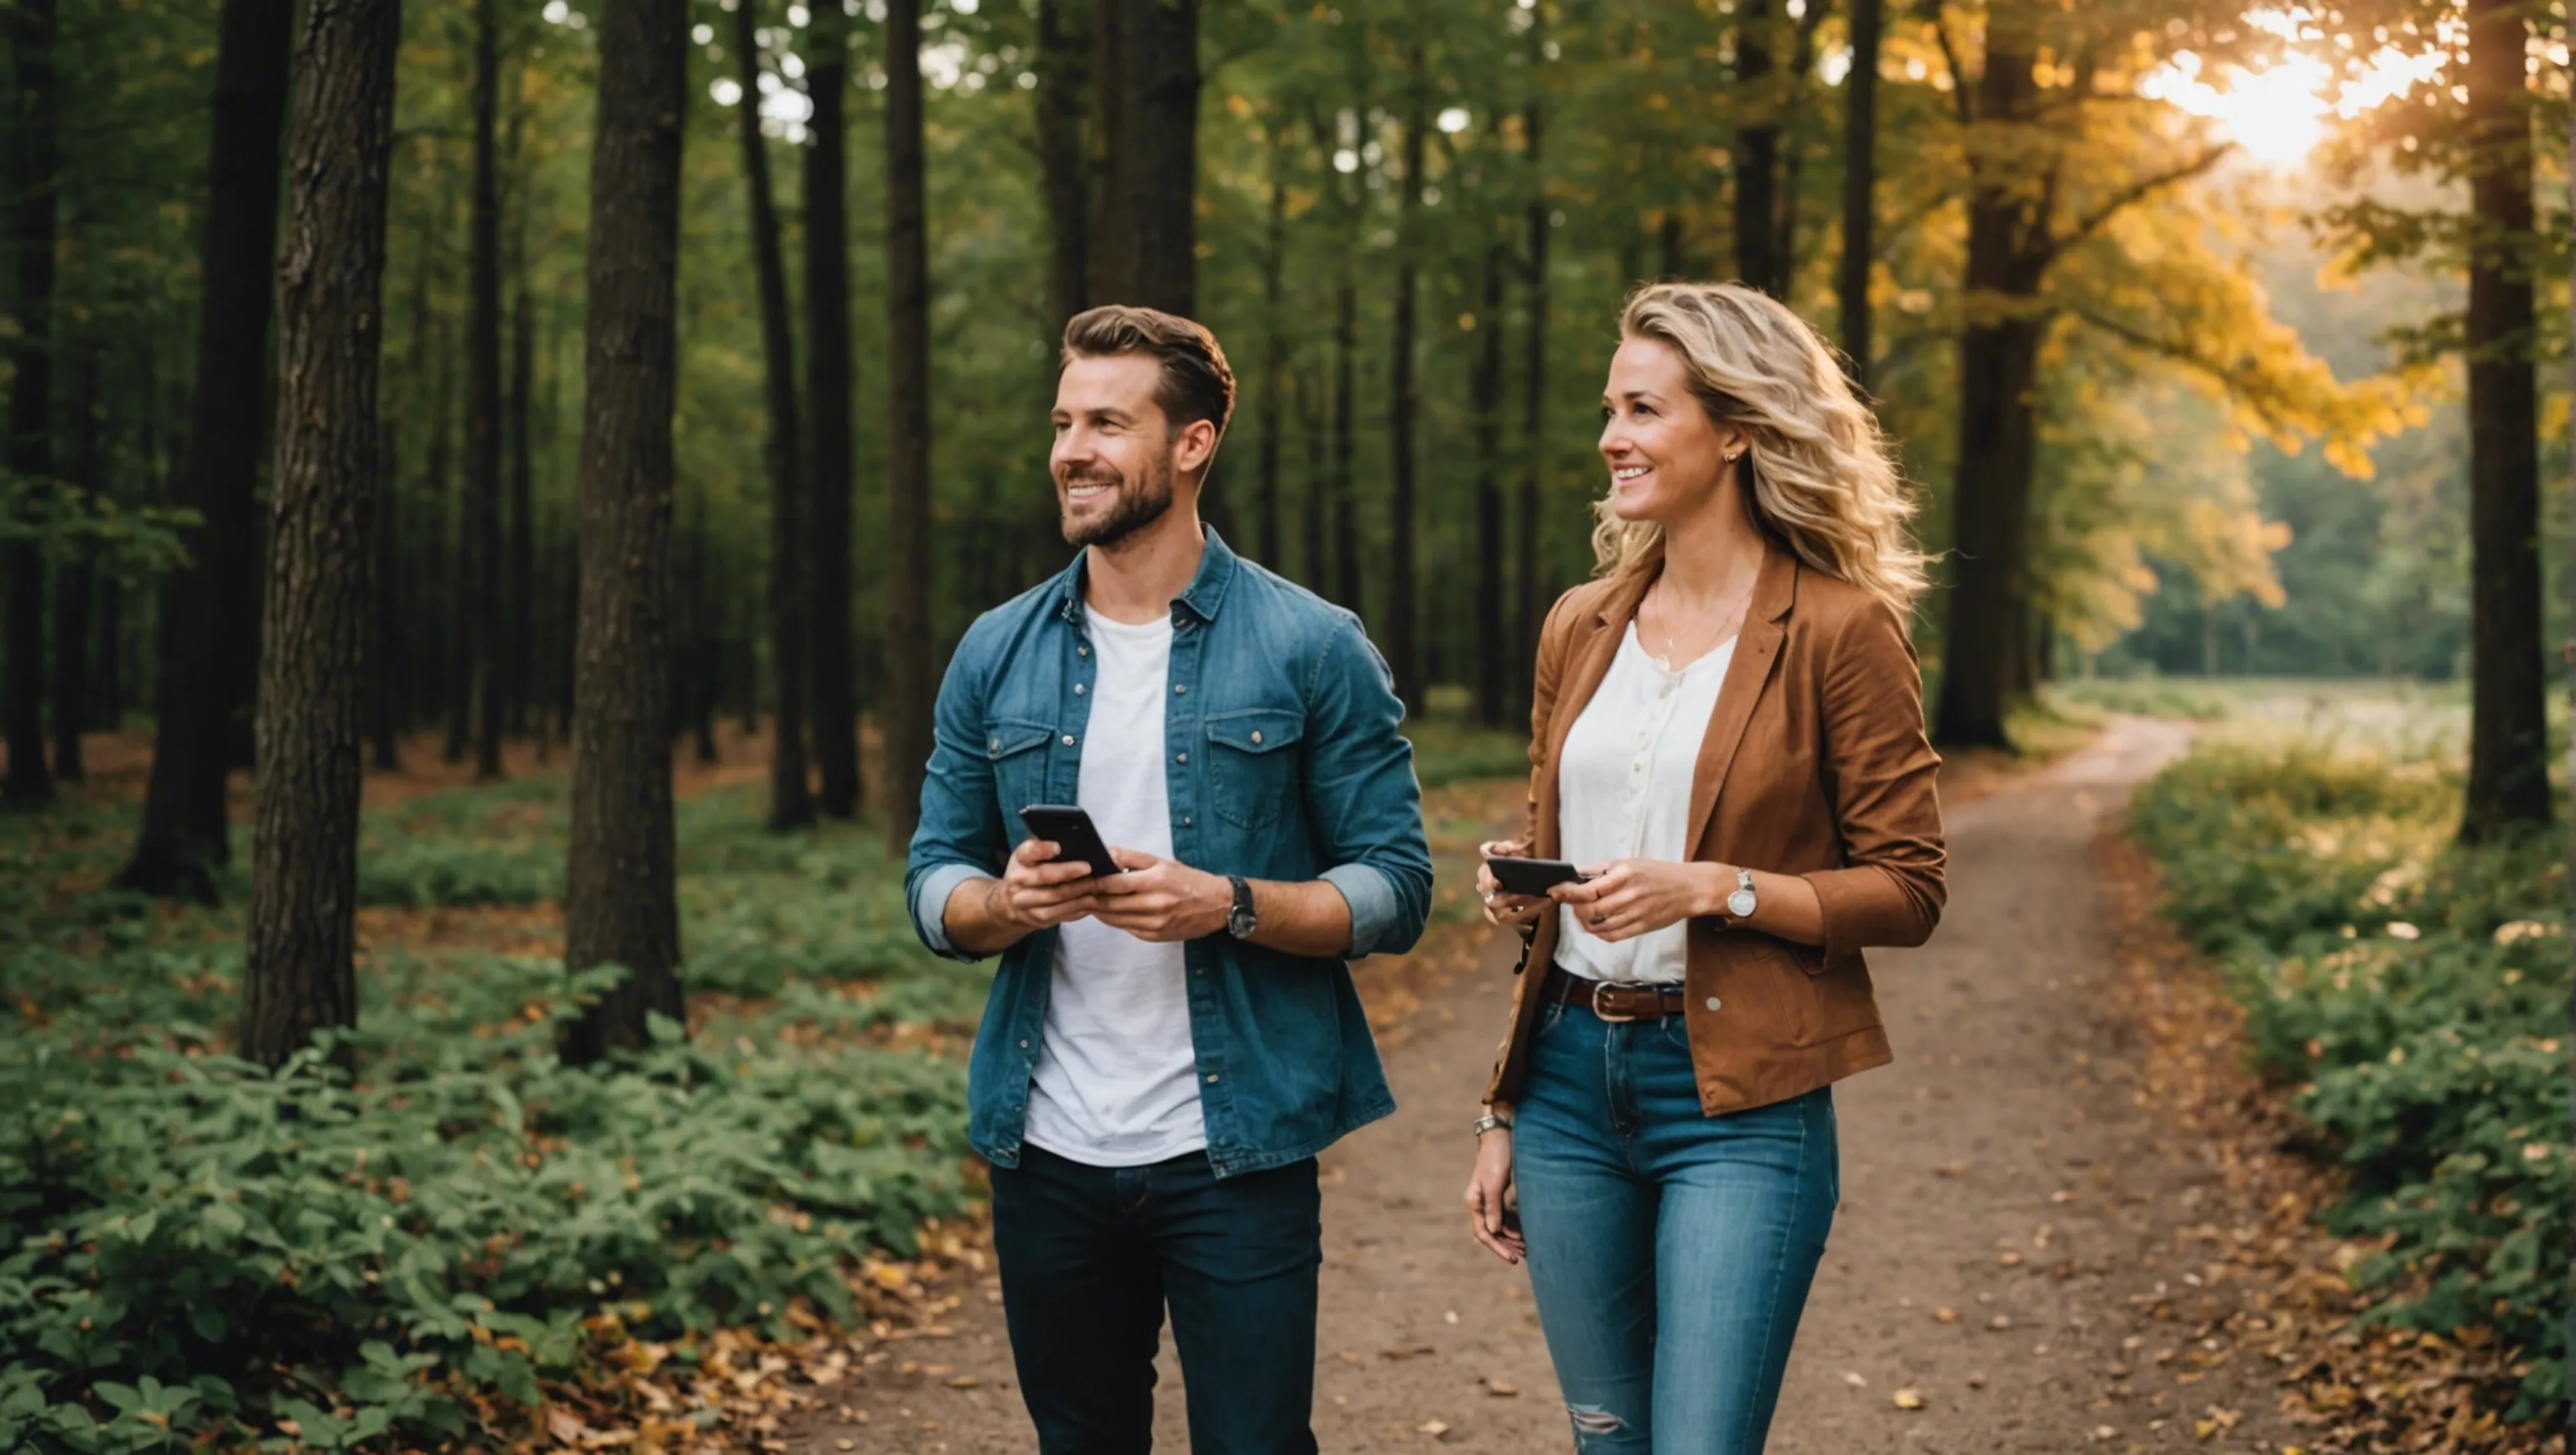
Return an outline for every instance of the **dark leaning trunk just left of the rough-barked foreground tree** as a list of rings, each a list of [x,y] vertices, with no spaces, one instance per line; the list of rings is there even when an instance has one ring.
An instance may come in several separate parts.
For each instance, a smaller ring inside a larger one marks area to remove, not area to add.
[[[198,515],[191,564],[162,592],[167,652],[155,693],[152,783],[121,883],[214,899],[232,858],[224,778],[242,711],[227,670],[258,636],[260,448],[268,443],[268,309],[276,288],[278,139],[294,0],[224,0],[214,57],[206,234],[198,252],[196,389],[173,500]]]

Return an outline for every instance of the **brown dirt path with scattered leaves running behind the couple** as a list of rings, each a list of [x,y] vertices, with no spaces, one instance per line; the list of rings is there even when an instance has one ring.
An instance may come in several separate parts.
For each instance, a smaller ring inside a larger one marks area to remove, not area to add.
[[[2272,1367],[2218,1329],[2236,1282],[2213,1177],[2136,1105],[2136,1048],[2099,1009],[2110,930],[2089,845],[2179,744],[2169,724],[2123,718],[2094,749],[1950,816],[1940,935],[1873,955],[1899,1061],[1837,1092],[1844,1205],[1775,1455],[2295,1440]],[[1528,1280],[1476,1249],[1458,1210],[1507,966],[1494,945],[1427,997],[1388,1048],[1404,1110],[1324,1156],[1329,1452],[1571,1445]],[[1922,1406],[1899,1409],[1901,1391]],[[824,1401],[799,1455],[1036,1447],[987,1288],[943,1337],[886,1347]],[[1170,1352],[1159,1416],[1159,1447],[1188,1450]]]

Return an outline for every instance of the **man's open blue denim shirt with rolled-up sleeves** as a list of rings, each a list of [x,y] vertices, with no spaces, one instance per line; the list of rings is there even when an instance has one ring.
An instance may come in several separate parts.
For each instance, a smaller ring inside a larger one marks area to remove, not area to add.
[[[940,955],[976,958],[948,940],[948,896],[1002,873],[1028,837],[1020,809],[1074,801],[1100,670],[1082,610],[1084,556],[979,615],[940,682],[904,876],[912,925]],[[1396,731],[1404,706],[1360,618],[1239,559],[1208,530],[1198,577],[1172,603],[1170,680],[1175,858],[1208,873],[1332,883],[1350,904],[1342,958],[1412,948],[1432,896],[1422,788]],[[1054,958],[1054,930],[1005,950],[976,1030],[966,1138],[997,1167],[1020,1164]],[[1342,958],[1226,932],[1182,948],[1198,1105],[1218,1177],[1314,1156],[1396,1110]]]

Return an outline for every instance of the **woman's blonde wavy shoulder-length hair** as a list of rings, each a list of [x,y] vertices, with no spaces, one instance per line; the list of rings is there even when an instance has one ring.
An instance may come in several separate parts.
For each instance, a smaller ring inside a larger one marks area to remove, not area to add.
[[[1878,415],[1806,319],[1744,283],[1646,283],[1628,294],[1618,332],[1672,345],[1700,409],[1744,433],[1757,525],[1808,567],[1911,610],[1929,585],[1906,530],[1914,494]],[[1662,525],[1620,520],[1607,497],[1592,502],[1592,515],[1595,574],[1654,564]]]

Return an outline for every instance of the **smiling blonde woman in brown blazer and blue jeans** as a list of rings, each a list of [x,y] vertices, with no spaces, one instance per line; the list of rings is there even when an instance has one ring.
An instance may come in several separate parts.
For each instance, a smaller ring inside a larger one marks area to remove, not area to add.
[[[1888,1061],[1865,945],[1942,906],[1911,502],[1795,314],[1659,283],[1602,394],[1597,579],[1538,644],[1528,937],[1476,1239],[1530,1259],[1584,1455],[1754,1455],[1834,1221],[1832,1082]],[[1517,1226],[1515,1213],[1517,1208]]]

